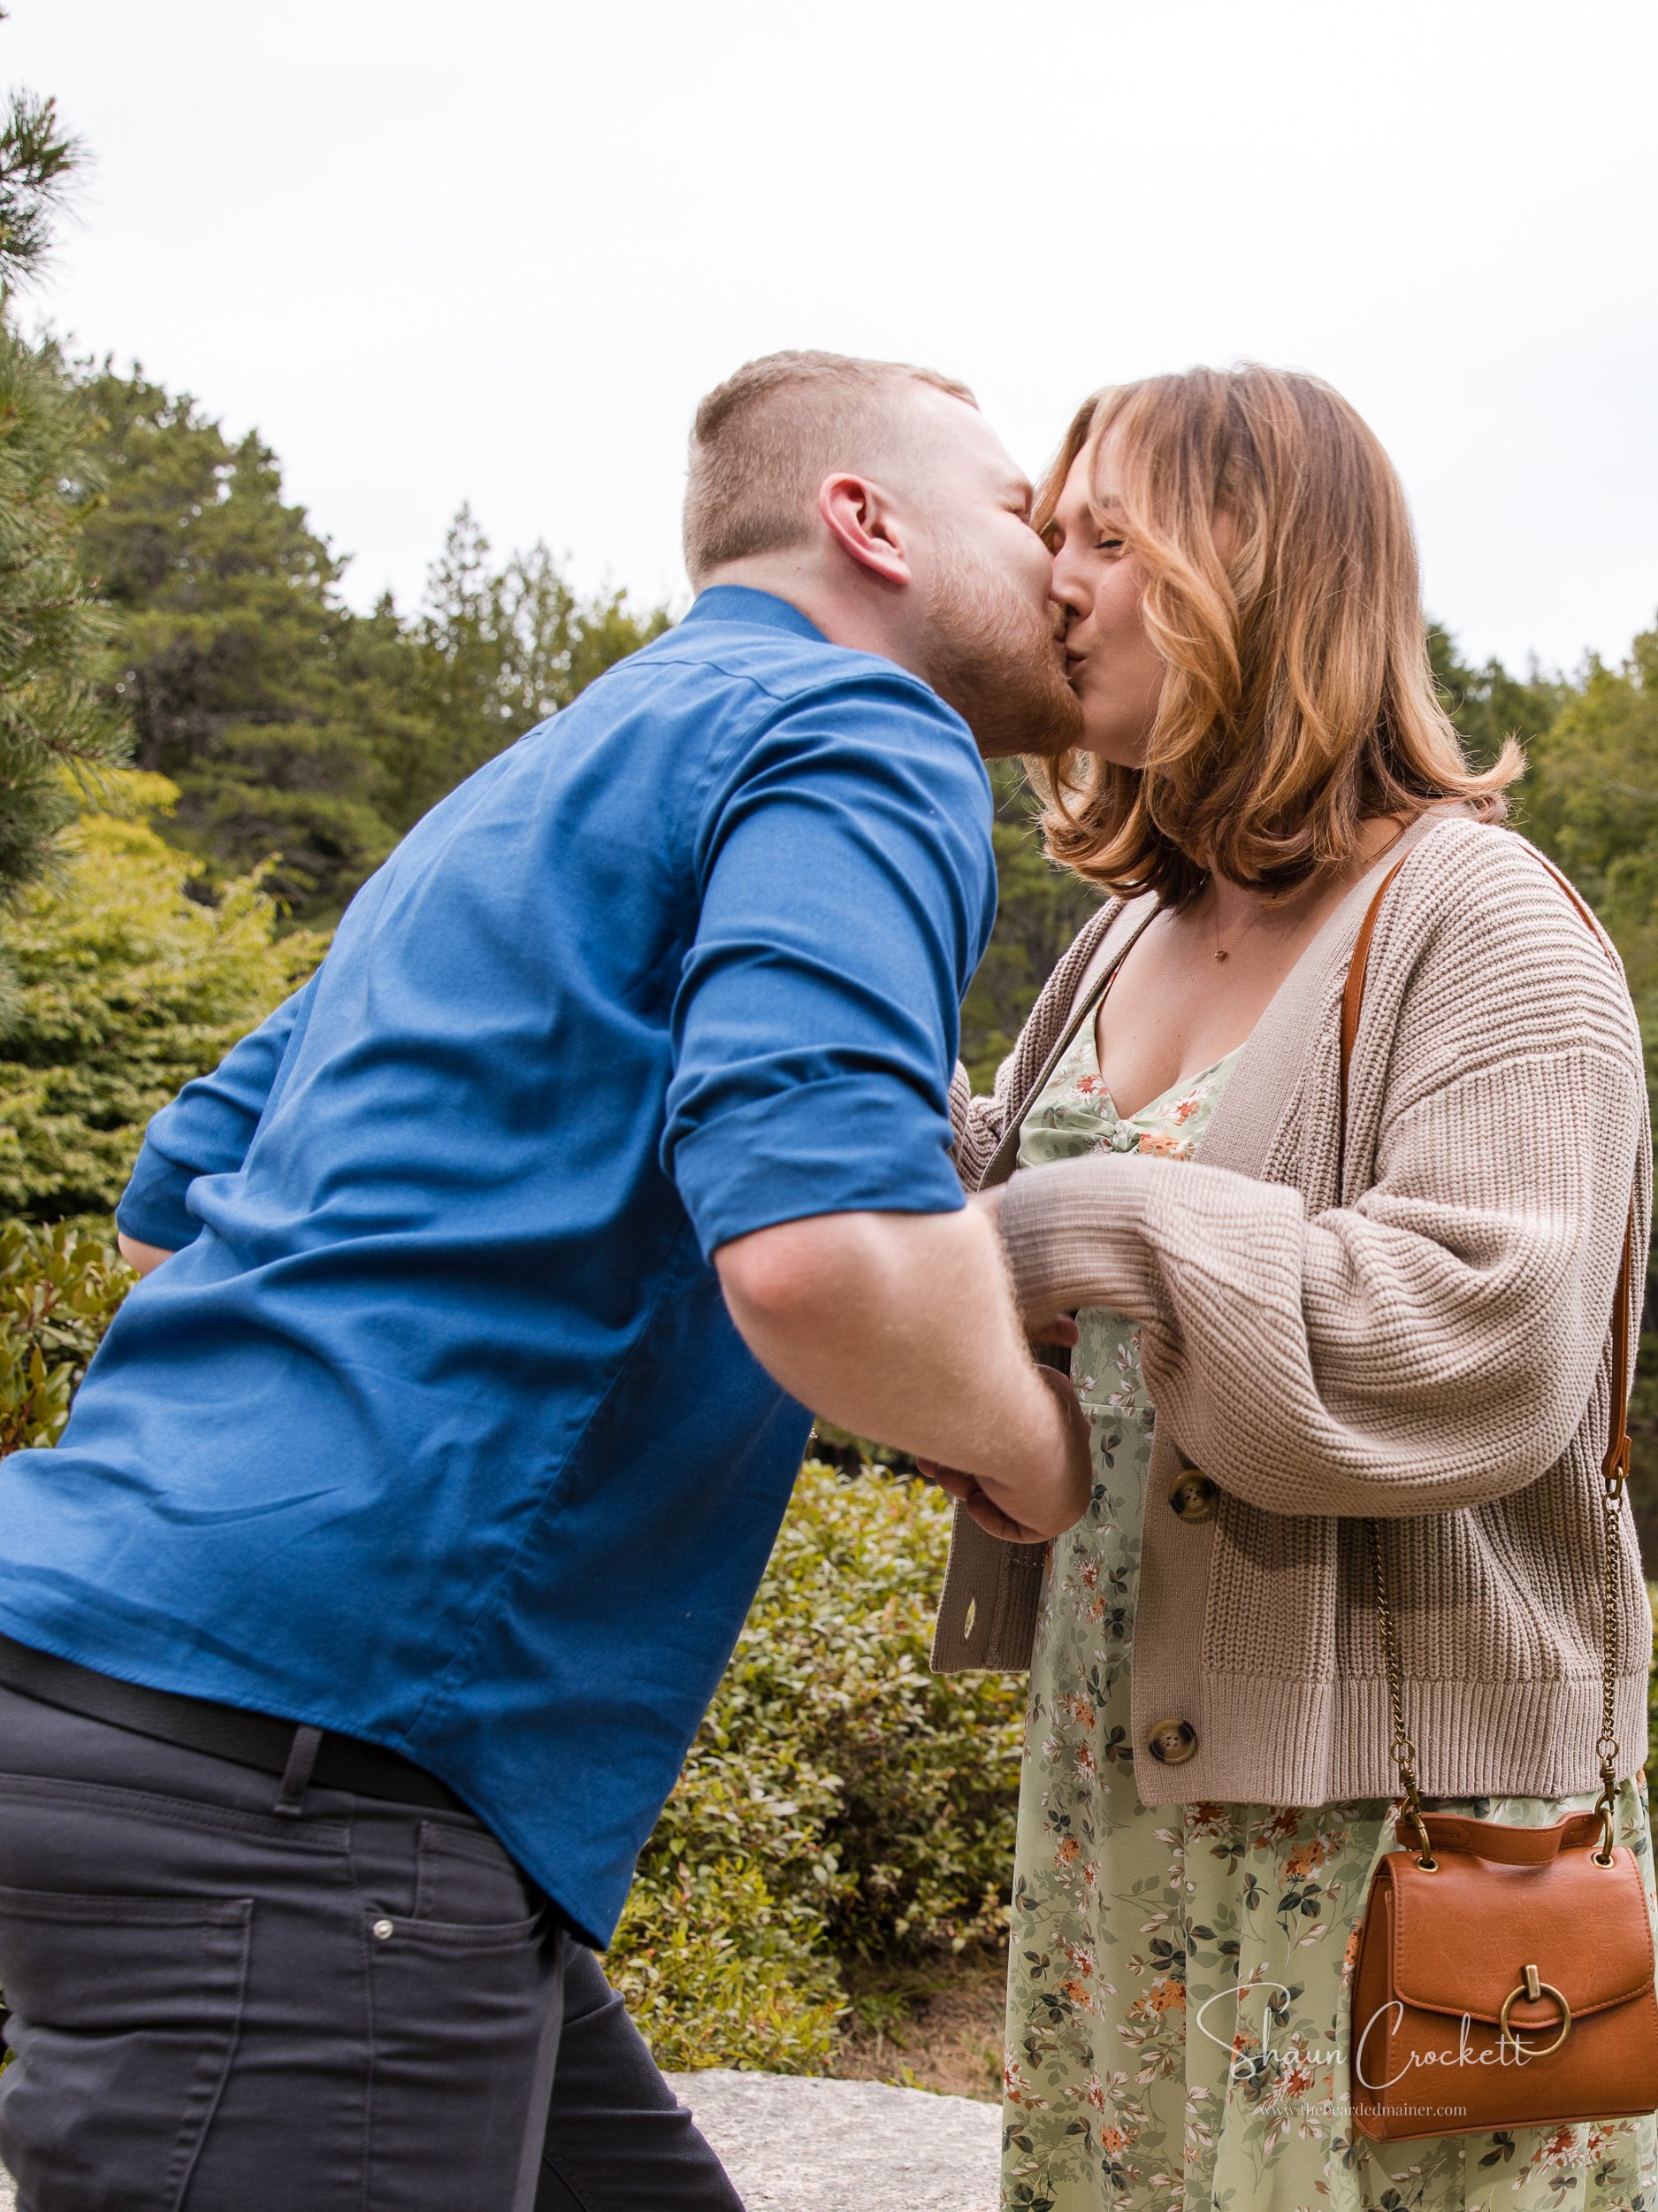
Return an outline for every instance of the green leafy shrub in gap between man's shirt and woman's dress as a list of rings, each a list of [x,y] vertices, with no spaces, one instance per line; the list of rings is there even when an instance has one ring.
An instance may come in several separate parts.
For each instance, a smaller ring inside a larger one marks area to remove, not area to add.
[[[948,1528],[924,1484],[800,1471],[608,1960],[663,2064],[820,2068],[842,1958],[999,1933],[1024,1688],[926,1670]]]

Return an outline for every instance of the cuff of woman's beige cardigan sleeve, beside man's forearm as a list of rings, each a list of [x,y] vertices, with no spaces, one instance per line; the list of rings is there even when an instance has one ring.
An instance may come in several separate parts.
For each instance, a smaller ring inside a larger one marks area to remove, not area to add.
[[[1001,1243],[1026,1321],[1052,1321],[1079,1305],[1110,1305],[1134,1321],[1161,1310],[1143,1228],[1147,1170],[1167,1172],[1167,1161],[1092,1152],[1012,1177]]]

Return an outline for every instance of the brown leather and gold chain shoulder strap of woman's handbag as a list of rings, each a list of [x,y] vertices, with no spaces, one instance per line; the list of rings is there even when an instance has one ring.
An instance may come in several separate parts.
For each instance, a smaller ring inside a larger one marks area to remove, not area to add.
[[[1539,854],[1541,858],[1541,854]],[[1340,1121],[1335,1133],[1335,1197],[1342,1199],[1344,1188],[1344,1161],[1346,1161],[1346,1071],[1353,1057],[1353,1042],[1360,1033],[1360,1009],[1364,1004],[1364,975],[1371,964],[1371,936],[1375,931],[1377,914],[1382,911],[1382,900],[1393,885],[1393,878],[1404,867],[1397,860],[1388,874],[1382,878],[1382,887],[1371,900],[1364,920],[1360,922],[1360,933],[1353,940],[1353,960],[1346,971],[1346,989],[1342,993],[1342,1104]],[[1594,931],[1594,916],[1583,905],[1578,894],[1565,880],[1565,876],[1550,863],[1543,860],[1550,876],[1561,885],[1565,896],[1572,900],[1583,922]],[[1598,942],[1598,936],[1596,936]],[[1596,1756],[1601,1761],[1601,1796],[1594,1809],[1601,1814],[1601,1845],[1594,1851],[1596,1865],[1612,1865],[1612,1836],[1614,1816],[1618,1803],[1618,1736],[1616,1725],[1616,1681],[1618,1681],[1618,1568],[1620,1568],[1620,1535],[1623,1535],[1623,1491],[1629,1480],[1629,1321],[1631,1321],[1631,1283],[1634,1283],[1634,1259],[1636,1259],[1636,1223],[1634,1210],[1623,1232],[1623,1259],[1618,1263],[1618,1287],[1612,1298],[1612,1407],[1607,1418],[1607,1451],[1601,1462],[1601,1734],[1594,1741]],[[1388,1577],[1382,1557],[1382,1522],[1371,1520],[1371,1562],[1375,1566],[1375,1619],[1382,1635],[1382,1657],[1388,1670],[1388,1703],[1393,1719],[1393,1736],[1388,1743],[1388,1754],[1399,1767],[1399,1783],[1404,1785],[1404,1825],[1415,1829],[1417,1836],[1417,1865],[1433,1874],[1439,1860],[1433,1856],[1433,1840],[1428,1836],[1428,1823],[1421,1816],[1421,1785],[1417,1783],[1417,1745],[1404,1725],[1404,1681],[1399,1668],[1399,1639],[1393,1621],[1393,1606],[1388,1604]]]

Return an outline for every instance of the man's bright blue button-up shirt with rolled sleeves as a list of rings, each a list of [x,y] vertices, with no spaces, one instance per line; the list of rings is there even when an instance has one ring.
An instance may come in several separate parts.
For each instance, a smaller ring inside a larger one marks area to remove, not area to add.
[[[710,1254],[962,1203],[993,911],[966,723],[705,591],[150,1124],[117,1219],[175,1256],[7,1462],[0,1628],[391,1745],[608,1942],[809,1429]]]

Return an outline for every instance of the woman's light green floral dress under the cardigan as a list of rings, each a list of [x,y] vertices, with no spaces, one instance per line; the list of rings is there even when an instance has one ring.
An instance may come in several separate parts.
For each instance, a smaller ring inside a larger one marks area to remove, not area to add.
[[[1192,1159],[1236,1060],[1119,1117],[1085,1022],[1026,1117],[1019,1164]],[[1094,1495],[1052,1546],[1030,1668],[1004,2212],[1658,2212],[1654,2117],[1413,2143],[1355,2135],[1353,1958],[1397,1798],[1141,1803],[1130,1666],[1152,1440],[1134,1323],[1085,1307],[1072,1374]],[[1430,1803],[1547,1825],[1594,1792]],[[1658,1918],[1645,1770],[1620,1785],[1618,1840],[1640,1856]]]

